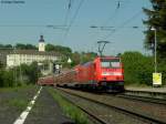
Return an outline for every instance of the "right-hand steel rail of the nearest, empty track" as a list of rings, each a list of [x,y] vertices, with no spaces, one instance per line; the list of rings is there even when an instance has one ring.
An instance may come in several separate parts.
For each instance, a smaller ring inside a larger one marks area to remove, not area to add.
[[[133,111],[128,111],[128,110],[125,110],[125,108],[122,108],[122,107],[117,107],[117,106],[114,106],[114,105],[110,105],[107,103],[103,103],[101,101],[95,101],[95,100],[92,100],[92,99],[89,99],[89,97],[85,97],[85,96],[81,96],[79,94],[75,94],[75,93],[71,93],[69,91],[64,91],[62,89],[59,89],[68,94],[71,94],[71,95],[74,95],[74,96],[77,96],[77,97],[81,97],[81,99],[84,99],[84,100],[87,100],[87,101],[91,101],[91,102],[94,102],[96,104],[101,104],[101,105],[104,105],[104,106],[107,106],[107,107],[111,107],[111,108],[114,108],[118,112],[122,112],[124,114],[129,114],[131,116],[135,116],[135,117],[138,117],[138,118],[142,118],[143,121],[148,121],[151,123],[157,123],[157,124],[166,124],[166,121],[165,120],[159,120],[159,118],[155,118],[154,116],[148,116],[146,114],[143,114],[143,113],[135,113]]]

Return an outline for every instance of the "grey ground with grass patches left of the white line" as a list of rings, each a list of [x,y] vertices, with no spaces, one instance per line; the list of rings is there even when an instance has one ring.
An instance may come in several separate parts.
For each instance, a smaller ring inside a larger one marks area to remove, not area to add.
[[[37,91],[37,86],[0,89],[0,124],[13,124]]]

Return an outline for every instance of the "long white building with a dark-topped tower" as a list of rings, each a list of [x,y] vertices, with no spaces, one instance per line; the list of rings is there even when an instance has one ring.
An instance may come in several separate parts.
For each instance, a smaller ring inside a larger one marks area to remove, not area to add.
[[[7,54],[7,68],[13,68],[20,64],[31,64],[38,62],[40,65],[48,62],[51,71],[52,62],[60,60],[60,54],[56,52],[45,52],[45,43],[43,35],[39,40],[39,50],[12,50]],[[48,73],[48,72],[46,72]]]

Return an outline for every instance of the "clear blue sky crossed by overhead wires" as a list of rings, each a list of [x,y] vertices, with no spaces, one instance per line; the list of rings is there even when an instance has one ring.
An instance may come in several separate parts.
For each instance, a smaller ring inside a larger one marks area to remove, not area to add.
[[[104,54],[146,53],[142,8],[149,0],[0,0],[0,43],[38,45],[43,34],[45,43],[79,52],[97,52],[97,41],[110,41]]]

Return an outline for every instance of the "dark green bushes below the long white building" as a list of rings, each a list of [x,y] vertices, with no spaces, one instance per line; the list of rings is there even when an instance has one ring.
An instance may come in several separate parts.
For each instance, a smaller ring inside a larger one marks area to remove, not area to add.
[[[35,84],[40,74],[37,62],[33,62],[31,65],[22,64],[21,68],[0,69],[0,87]]]

